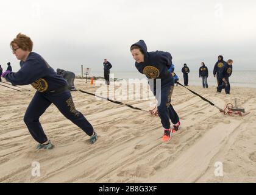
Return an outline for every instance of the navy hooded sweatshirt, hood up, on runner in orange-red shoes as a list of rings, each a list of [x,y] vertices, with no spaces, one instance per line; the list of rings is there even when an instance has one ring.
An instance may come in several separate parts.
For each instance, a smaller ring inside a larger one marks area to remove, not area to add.
[[[148,79],[161,79],[161,86],[174,85],[172,74],[168,71],[172,65],[171,54],[164,51],[148,52],[146,43],[143,40],[132,44],[132,46],[134,45],[140,47],[144,54],[144,62],[135,62],[138,71],[141,74],[145,74]]]

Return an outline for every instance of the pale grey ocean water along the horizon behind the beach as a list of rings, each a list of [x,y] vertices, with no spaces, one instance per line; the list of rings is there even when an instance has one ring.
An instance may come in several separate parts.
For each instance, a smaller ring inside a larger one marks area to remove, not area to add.
[[[181,71],[175,71],[179,76],[179,82],[183,84],[183,74]],[[145,79],[146,76],[138,73],[138,71],[133,72],[115,72],[111,71],[112,77],[118,79]],[[81,75],[81,73],[76,73],[76,75]],[[91,72],[89,76],[101,76],[104,77],[102,72]],[[208,85],[216,86],[216,78],[213,77],[212,71],[209,71]],[[202,79],[199,78],[198,71],[190,71],[188,74],[188,85],[202,85]],[[256,71],[233,71],[230,77],[230,85],[235,87],[252,87],[256,88]]]

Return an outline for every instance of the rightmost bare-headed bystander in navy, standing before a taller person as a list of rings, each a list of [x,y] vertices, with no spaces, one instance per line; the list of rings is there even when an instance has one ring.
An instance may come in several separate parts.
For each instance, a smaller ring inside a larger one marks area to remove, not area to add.
[[[232,74],[233,66],[232,66],[233,60],[229,59],[226,63],[224,63],[224,66],[219,70],[219,77],[222,79],[223,84],[217,87],[217,91],[221,93],[221,90],[225,88],[226,94],[230,94],[230,83],[229,83],[229,77]]]

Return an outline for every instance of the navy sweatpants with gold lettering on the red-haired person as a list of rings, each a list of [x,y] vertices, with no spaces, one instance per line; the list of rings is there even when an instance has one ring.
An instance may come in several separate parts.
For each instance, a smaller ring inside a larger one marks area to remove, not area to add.
[[[29,129],[35,141],[42,144],[48,140],[44,134],[39,118],[51,104],[54,104],[67,119],[84,130],[87,135],[93,135],[93,126],[91,126],[90,122],[87,121],[82,113],[76,110],[69,91],[55,95],[37,91],[29,107],[27,107],[24,116],[27,129]]]

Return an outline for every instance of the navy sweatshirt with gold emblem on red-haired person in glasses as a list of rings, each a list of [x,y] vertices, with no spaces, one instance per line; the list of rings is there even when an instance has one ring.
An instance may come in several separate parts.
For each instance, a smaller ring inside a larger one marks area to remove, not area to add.
[[[57,88],[68,85],[66,80],[55,73],[54,69],[41,57],[41,55],[30,52],[26,62],[20,62],[21,69],[17,73],[9,73],[5,79],[13,85],[31,84],[39,92],[57,90]]]

